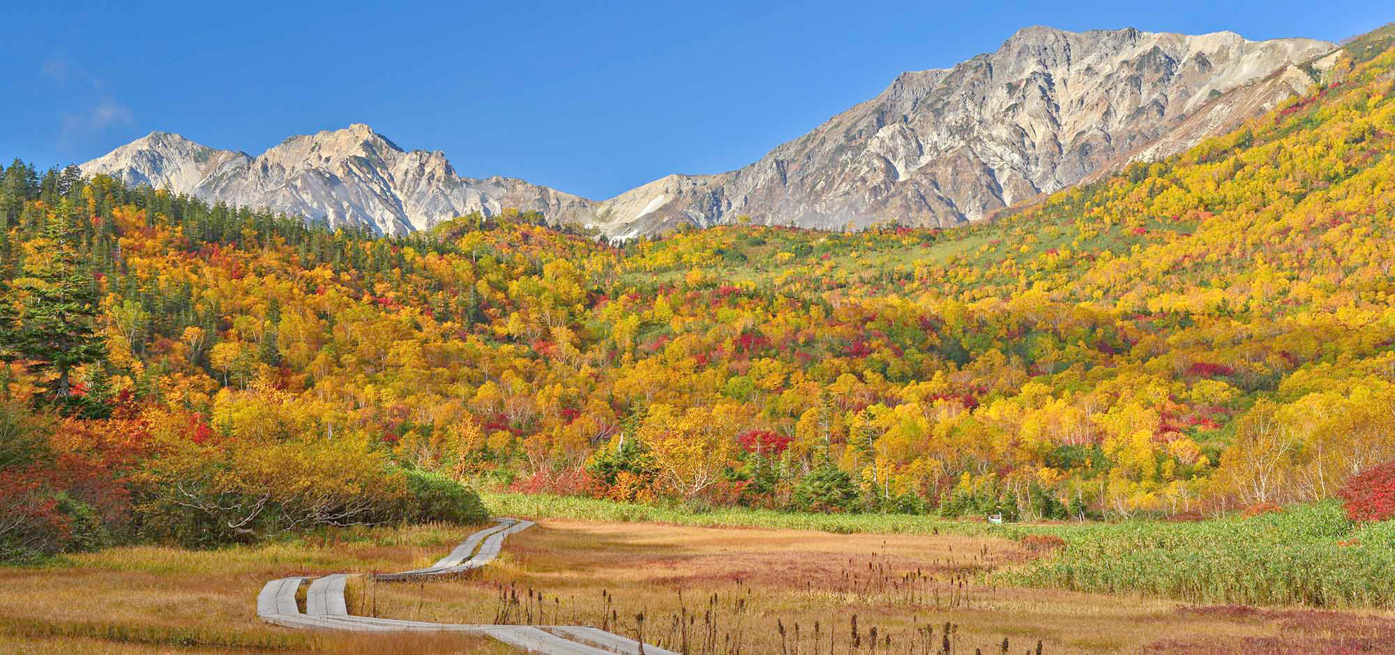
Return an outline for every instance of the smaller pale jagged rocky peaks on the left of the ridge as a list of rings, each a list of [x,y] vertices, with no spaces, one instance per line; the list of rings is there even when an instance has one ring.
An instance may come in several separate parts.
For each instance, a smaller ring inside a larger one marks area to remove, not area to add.
[[[190,155],[197,152],[220,163],[199,166]],[[441,152],[406,152],[361,124],[292,137],[255,159],[155,132],[81,169],[379,234],[425,230],[472,212],[492,216],[512,208],[566,216],[590,208],[583,198],[522,180],[460,177]]]

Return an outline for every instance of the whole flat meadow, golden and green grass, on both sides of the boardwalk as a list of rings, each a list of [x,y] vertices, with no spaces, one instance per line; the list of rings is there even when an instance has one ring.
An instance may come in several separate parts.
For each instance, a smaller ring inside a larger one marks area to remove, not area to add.
[[[1374,595],[1388,588],[1382,580],[1352,580],[1368,596],[1328,591],[1327,605],[1348,606],[1341,610],[1300,606],[1311,596],[1283,596],[1282,584],[1256,596],[1256,606],[1226,598],[1225,585],[1176,583],[1209,571],[1232,580],[1230,588],[1261,588],[1278,573],[1290,576],[1285,584],[1310,580],[1325,590],[1335,578],[1321,566],[1336,570],[1341,560],[1324,559],[1311,574],[1262,569],[1244,559],[1246,548],[1292,542],[1292,553],[1328,557],[1318,548],[1324,539],[1375,548],[1385,538],[1389,549],[1389,524],[1342,525],[1325,506],[1198,523],[988,525],[484,496],[491,509],[540,524],[511,537],[499,560],[467,576],[357,578],[350,610],[451,623],[591,624],[631,637],[643,631],[651,644],[703,655],[939,654],[946,638],[954,654],[999,654],[1004,640],[1014,654],[1035,652],[1038,641],[1043,654],[1395,648],[1395,612],[1388,596]],[[261,624],[252,610],[265,580],[424,566],[472,530],[322,530],[255,546],[124,546],[0,569],[0,585],[10,591],[0,598],[0,651],[509,652],[466,637],[285,630]],[[1274,559],[1302,564],[1292,553]],[[1201,557],[1211,569],[1169,567],[1162,563],[1169,556]],[[1250,578],[1246,567],[1257,567]],[[1367,562],[1366,571],[1381,570]]]

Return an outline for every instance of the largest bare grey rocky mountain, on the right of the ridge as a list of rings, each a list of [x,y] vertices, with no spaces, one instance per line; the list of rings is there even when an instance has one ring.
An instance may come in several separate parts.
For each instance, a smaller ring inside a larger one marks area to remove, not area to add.
[[[1297,64],[1334,47],[1233,32],[1027,28],[954,68],[904,72],[882,95],[751,166],[688,178],[703,183],[713,198],[702,201],[716,212],[671,196],[631,216],[625,230],[741,215],[819,229],[979,220],[1130,156],[1159,159],[1222,134],[1306,92],[1313,79]],[[1236,89],[1244,92],[1228,98]],[[1193,114],[1205,117],[1187,123]],[[603,205],[629,206],[636,191]]]

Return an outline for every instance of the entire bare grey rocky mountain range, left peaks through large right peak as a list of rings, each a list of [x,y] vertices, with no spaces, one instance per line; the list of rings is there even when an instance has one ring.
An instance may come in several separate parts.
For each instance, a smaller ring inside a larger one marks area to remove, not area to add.
[[[1027,28],[953,68],[904,72],[746,167],[668,176],[600,202],[460,177],[441,152],[406,152],[367,125],[293,137],[255,159],[155,132],[82,171],[384,234],[504,208],[618,238],[742,216],[815,229],[947,227],[1233,130],[1306,92],[1335,47],[1233,32]]]

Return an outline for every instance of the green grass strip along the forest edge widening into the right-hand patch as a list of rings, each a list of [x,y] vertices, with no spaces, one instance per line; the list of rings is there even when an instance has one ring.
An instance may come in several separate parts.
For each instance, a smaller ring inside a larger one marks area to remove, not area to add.
[[[1204,521],[1002,524],[905,514],[698,511],[547,495],[484,492],[509,516],[674,525],[1062,539],[1057,556],[997,576],[1003,584],[1145,592],[1191,602],[1395,609],[1395,521],[1353,524],[1334,502]]]

